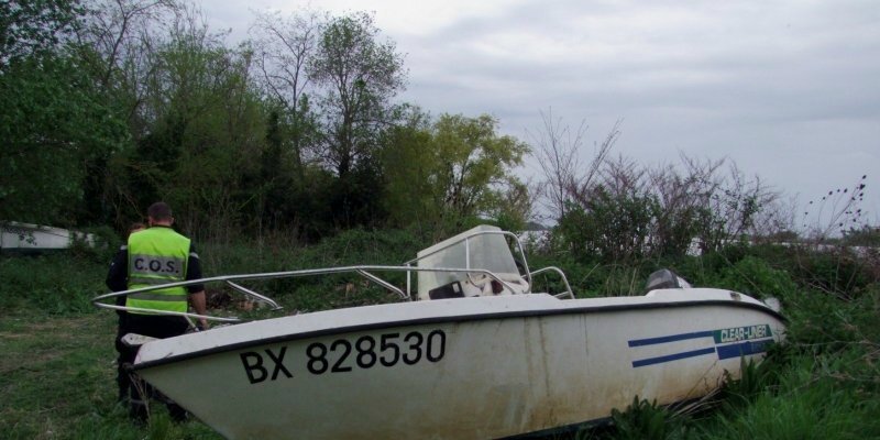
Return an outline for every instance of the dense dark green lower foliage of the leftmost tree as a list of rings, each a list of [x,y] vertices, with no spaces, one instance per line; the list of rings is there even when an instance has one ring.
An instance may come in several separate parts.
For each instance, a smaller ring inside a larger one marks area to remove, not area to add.
[[[0,218],[72,224],[92,165],[124,141],[122,123],[78,72],[58,54],[16,61],[0,76]]]

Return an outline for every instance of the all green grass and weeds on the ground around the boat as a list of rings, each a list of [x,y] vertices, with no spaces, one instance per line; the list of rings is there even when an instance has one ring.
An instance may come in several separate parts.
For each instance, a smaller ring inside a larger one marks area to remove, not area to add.
[[[418,243],[406,234],[354,231],[310,249],[248,245],[200,248],[206,274],[272,272],[363,262],[396,264]],[[540,265],[540,257],[530,260]],[[574,439],[861,439],[880,438],[880,285],[837,263],[755,251],[698,260],[608,267],[565,261],[575,292],[639,294],[660,265],[695,285],[777,296],[790,319],[789,343],[758,366],[747,366],[719,397],[688,414],[635,399],[612,427],[584,429]],[[176,425],[154,405],[148,426],[130,422],[116,402],[116,315],[89,299],[105,292],[105,255],[0,256],[0,437],[4,439],[219,439],[193,420]],[[825,275],[822,275],[825,274]],[[829,293],[835,276],[850,290]],[[853,279],[858,283],[853,284]],[[815,288],[817,280],[822,288]],[[346,294],[344,277],[266,283],[258,290],[287,310],[317,310],[394,300],[376,289]],[[640,283],[639,283],[640,286]],[[814,287],[811,287],[814,286]],[[295,294],[290,294],[295,293]]]

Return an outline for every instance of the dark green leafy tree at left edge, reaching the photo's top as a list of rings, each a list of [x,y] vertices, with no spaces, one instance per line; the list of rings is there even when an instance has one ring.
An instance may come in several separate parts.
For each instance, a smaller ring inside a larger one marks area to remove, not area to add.
[[[125,141],[72,48],[79,13],[74,1],[0,6],[0,218],[91,220],[81,210],[91,166]]]

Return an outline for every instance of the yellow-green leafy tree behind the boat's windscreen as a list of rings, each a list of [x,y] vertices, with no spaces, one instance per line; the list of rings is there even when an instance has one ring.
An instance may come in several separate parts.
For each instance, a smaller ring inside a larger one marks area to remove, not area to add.
[[[410,107],[404,120],[386,133],[381,154],[385,207],[395,226],[439,237],[477,218],[525,224],[530,198],[513,168],[528,145],[497,134],[497,120],[487,114],[432,120]]]

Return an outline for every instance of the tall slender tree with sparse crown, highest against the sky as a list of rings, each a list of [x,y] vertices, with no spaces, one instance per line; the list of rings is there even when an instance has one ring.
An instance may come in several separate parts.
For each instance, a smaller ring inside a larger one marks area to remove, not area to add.
[[[330,197],[338,227],[375,221],[384,213],[376,154],[384,130],[392,125],[391,100],[403,89],[403,58],[391,42],[377,42],[373,15],[352,13],[321,29],[309,79],[319,88],[321,139],[318,155],[336,173]]]

